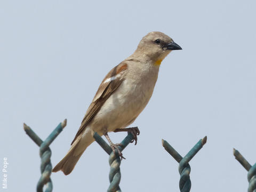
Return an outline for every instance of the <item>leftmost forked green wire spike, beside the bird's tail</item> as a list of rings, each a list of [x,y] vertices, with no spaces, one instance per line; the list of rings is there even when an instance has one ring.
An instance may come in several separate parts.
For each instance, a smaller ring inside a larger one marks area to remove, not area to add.
[[[63,128],[67,125],[67,119],[61,122],[52,133],[43,141],[38,135],[25,123],[23,124],[23,128],[27,135],[36,143],[37,146],[40,147],[39,155],[41,157],[41,177],[37,182],[36,191],[43,192],[43,187],[45,185],[45,192],[51,192],[53,185],[51,181],[51,173],[52,173],[52,164],[51,164],[51,149],[50,145],[52,141],[60,134]]]

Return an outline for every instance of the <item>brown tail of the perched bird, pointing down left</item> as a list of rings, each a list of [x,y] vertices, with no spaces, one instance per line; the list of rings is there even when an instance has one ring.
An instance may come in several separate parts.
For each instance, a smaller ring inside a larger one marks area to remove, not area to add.
[[[62,171],[65,175],[71,173],[79,158],[93,140],[92,135],[88,133],[83,138],[78,137],[71,145],[67,155],[53,168],[52,172]]]

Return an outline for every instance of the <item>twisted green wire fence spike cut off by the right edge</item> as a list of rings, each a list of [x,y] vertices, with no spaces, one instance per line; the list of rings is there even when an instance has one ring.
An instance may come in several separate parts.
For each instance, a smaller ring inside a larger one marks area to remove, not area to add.
[[[256,163],[252,166],[247,160],[239,153],[238,150],[233,149],[233,154],[236,160],[248,171],[247,180],[249,182],[248,192],[256,192]]]

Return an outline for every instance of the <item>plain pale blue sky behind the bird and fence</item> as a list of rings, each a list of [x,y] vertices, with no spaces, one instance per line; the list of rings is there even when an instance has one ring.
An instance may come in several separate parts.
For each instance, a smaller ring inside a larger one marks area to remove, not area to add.
[[[178,163],[161,139],[183,156],[207,135],[190,162],[191,191],[246,191],[247,172],[233,147],[256,162],[255,10],[255,1],[1,1],[5,191],[35,191],[40,177],[39,148],[23,122],[45,139],[68,119],[51,145],[57,164],[102,78],[149,31],[171,36],[183,50],[162,62],[153,97],[132,124],[141,134],[123,152],[121,189],[179,191]],[[106,191],[108,173],[108,156],[93,143],[70,175],[51,178],[54,191]]]

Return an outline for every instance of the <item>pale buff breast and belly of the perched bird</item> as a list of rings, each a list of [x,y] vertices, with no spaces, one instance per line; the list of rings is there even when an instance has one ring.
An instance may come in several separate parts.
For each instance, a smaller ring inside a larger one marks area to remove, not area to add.
[[[126,77],[94,118],[95,127],[104,124],[108,131],[114,131],[131,124],[146,107],[156,80],[157,74],[155,77]]]

